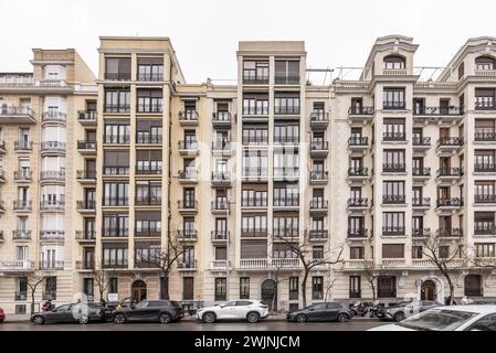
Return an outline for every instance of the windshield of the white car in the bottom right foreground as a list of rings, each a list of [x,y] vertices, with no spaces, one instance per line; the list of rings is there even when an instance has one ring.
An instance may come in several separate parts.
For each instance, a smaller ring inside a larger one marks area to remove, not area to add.
[[[454,331],[477,315],[469,311],[428,310],[397,323],[400,327],[422,331]]]

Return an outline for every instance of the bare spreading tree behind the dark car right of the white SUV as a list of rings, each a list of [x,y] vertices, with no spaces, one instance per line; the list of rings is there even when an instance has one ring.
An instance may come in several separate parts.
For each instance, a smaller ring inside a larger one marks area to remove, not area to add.
[[[310,275],[310,271],[319,266],[326,266],[326,265],[336,265],[338,263],[342,263],[341,255],[344,252],[344,246],[339,245],[336,247],[335,252],[331,252],[330,247],[324,247],[324,252],[320,257],[314,257],[312,254],[313,245],[309,243],[308,238],[305,236],[303,242],[299,238],[291,237],[277,237],[281,239],[284,244],[288,246],[288,249],[295,254],[297,258],[302,261],[303,265],[303,279],[302,279],[302,300],[303,306],[307,306],[307,298],[306,298],[306,289],[307,289],[307,282],[308,277]],[[334,254],[334,253],[337,253]],[[334,257],[334,259],[331,259]]]

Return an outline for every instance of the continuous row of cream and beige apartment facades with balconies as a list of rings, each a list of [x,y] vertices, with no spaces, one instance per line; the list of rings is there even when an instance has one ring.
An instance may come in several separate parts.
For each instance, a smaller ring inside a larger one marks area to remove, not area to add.
[[[495,298],[494,267],[467,260],[496,258],[495,42],[424,79],[411,38],[379,38],[358,79],[326,85],[296,41],[240,42],[235,82],[201,84],[167,38],[101,38],[98,78],[74,51],[35,50],[33,74],[0,75],[0,303],[27,302],[29,271],[56,277],[57,301],[99,299],[95,269],[107,299],[184,308],[291,310],[305,280],[307,302],[444,301],[434,237],[455,297]]]

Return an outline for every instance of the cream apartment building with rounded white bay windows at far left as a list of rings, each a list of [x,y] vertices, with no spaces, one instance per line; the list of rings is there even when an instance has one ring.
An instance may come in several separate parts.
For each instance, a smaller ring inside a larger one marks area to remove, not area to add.
[[[0,301],[19,313],[36,278],[36,303],[73,299],[78,202],[91,195],[76,180],[96,156],[95,76],[74,50],[35,49],[31,63],[0,74]]]

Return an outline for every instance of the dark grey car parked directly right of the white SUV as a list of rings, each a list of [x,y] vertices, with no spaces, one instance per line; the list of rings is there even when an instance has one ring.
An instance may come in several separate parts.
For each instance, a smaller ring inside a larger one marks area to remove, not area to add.
[[[319,302],[306,307],[305,309],[289,312],[287,321],[307,322],[307,321],[339,321],[347,322],[351,319],[350,309],[347,304],[329,301]]]

